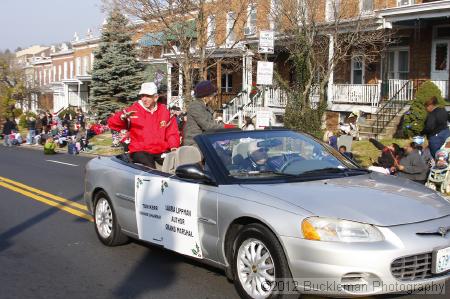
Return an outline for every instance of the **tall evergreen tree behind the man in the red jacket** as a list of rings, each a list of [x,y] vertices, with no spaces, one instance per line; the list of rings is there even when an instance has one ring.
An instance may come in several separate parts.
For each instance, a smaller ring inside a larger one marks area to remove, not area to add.
[[[142,83],[142,65],[127,26],[128,19],[114,9],[103,27],[92,69],[91,109],[100,119],[130,104]]]

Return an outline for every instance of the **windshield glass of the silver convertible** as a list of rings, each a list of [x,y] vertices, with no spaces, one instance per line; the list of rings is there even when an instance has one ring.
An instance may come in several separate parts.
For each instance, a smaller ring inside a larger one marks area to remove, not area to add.
[[[209,135],[228,176],[300,177],[361,172],[330,146],[292,131],[245,131]]]

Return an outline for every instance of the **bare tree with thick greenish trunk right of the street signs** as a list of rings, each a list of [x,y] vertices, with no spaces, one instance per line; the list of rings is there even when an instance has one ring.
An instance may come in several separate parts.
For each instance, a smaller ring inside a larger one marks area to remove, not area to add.
[[[355,52],[366,62],[376,61],[391,35],[373,16],[360,12],[359,1],[333,0],[326,9],[324,2],[282,0],[271,8],[278,39],[284,41],[279,44],[288,53],[295,78],[289,82],[277,76],[288,98],[285,123],[317,136],[333,72]]]

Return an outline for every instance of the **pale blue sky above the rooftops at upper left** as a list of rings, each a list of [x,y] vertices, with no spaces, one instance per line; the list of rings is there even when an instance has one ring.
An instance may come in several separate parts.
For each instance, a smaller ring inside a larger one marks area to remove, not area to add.
[[[105,15],[101,0],[0,0],[0,50],[50,45],[97,35]]]

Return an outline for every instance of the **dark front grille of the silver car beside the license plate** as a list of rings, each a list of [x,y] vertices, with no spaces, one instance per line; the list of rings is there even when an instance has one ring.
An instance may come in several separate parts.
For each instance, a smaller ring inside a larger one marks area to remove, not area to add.
[[[431,263],[431,252],[405,256],[392,262],[391,273],[401,281],[415,281],[445,275],[445,273],[431,273]]]

